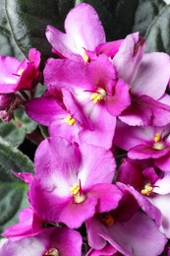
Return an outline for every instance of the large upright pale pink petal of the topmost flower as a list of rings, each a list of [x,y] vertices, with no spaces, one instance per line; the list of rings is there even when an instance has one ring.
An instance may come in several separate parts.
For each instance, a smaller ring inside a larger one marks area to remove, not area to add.
[[[85,49],[93,51],[105,42],[105,32],[94,8],[88,4],[78,4],[65,20],[65,30],[74,39],[80,54]]]

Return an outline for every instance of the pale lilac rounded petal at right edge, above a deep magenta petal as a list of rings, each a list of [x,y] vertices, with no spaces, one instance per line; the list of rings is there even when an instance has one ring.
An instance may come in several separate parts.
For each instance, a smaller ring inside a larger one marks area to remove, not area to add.
[[[169,78],[169,55],[163,52],[146,53],[142,57],[132,92],[137,96],[144,95],[158,99],[164,95]]]

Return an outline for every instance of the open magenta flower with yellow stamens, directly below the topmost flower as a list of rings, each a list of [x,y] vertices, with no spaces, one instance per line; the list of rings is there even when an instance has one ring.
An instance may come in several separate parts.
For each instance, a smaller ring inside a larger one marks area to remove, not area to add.
[[[55,76],[52,75],[54,73]],[[116,70],[108,58],[100,55],[87,65],[49,59],[44,80],[51,94],[56,95],[62,90],[64,102],[71,113],[76,114],[79,108],[89,120],[91,128],[80,132],[80,141],[109,149],[115,116],[130,104],[130,95],[129,85],[117,80]],[[74,115],[72,117],[75,118]]]

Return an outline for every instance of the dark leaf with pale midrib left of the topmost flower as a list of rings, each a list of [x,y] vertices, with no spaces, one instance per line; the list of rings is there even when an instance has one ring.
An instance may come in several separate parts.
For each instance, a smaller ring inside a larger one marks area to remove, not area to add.
[[[5,0],[11,31],[25,56],[31,47],[42,53],[43,60],[51,56],[51,45],[45,37],[46,26],[63,30],[65,17],[73,7],[73,0]]]

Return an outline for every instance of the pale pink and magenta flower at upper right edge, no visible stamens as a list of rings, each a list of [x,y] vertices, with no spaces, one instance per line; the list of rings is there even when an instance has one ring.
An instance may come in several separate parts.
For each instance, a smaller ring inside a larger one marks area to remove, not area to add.
[[[163,126],[170,122],[170,107],[159,100],[166,96],[170,57],[160,52],[143,54],[144,45],[139,32],[129,34],[112,60],[118,76],[131,86],[132,104],[119,118],[130,125]]]

